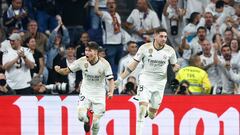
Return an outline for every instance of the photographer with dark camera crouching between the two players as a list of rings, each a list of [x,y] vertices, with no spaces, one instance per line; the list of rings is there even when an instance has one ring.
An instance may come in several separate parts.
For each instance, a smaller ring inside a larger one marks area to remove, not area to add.
[[[129,76],[127,78],[127,83],[125,84],[124,90],[121,94],[127,95],[136,95],[137,94],[137,83],[136,78],[134,76]]]

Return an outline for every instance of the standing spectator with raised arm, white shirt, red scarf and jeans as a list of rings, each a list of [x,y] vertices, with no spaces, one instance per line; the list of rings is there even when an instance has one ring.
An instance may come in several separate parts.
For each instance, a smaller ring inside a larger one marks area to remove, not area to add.
[[[113,75],[117,78],[118,63],[123,54],[121,18],[116,12],[115,0],[107,0],[108,11],[99,10],[99,0],[95,3],[95,12],[103,21],[103,44],[107,49],[107,60]]]

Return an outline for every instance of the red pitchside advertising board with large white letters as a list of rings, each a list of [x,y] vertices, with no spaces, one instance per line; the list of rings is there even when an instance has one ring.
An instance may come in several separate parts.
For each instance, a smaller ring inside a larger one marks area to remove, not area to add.
[[[78,96],[1,96],[0,135],[85,135]],[[143,135],[240,135],[240,96],[165,96]],[[138,103],[107,100],[99,135],[135,135]],[[90,135],[90,134],[88,134]]]

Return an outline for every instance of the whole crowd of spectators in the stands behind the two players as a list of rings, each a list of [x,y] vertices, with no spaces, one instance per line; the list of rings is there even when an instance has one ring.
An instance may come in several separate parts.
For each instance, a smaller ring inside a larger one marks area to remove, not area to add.
[[[181,65],[176,75],[169,66],[168,93],[240,94],[239,0],[136,0],[126,20],[116,0],[85,0],[89,25],[77,42],[71,41],[55,0],[6,2],[0,26],[0,95],[79,93],[81,71],[61,76],[53,67],[67,67],[84,56],[90,41],[98,42],[99,55],[109,61],[117,79],[138,48],[152,42],[158,27],[167,29],[168,44]],[[141,66],[115,94],[136,94]]]

